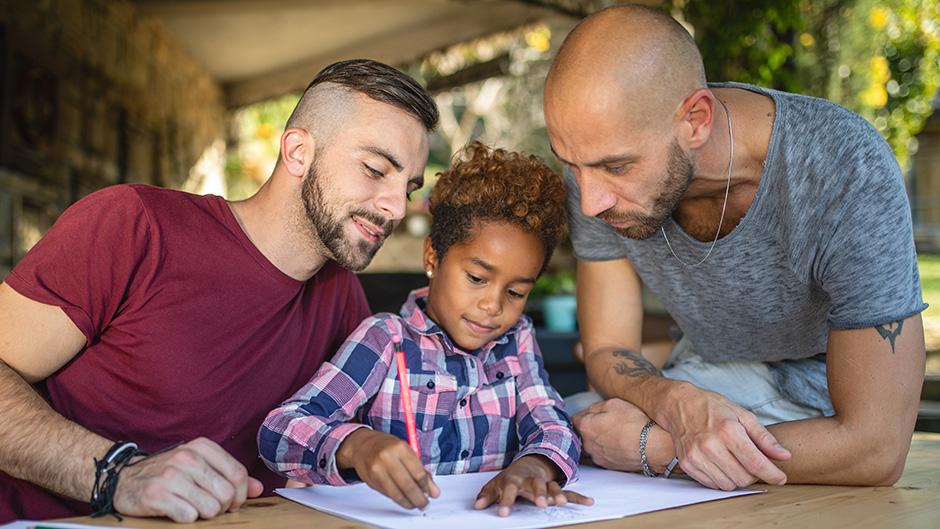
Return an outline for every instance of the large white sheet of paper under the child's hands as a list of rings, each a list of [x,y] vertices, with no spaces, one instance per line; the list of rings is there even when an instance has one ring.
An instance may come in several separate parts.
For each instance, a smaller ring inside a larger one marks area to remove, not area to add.
[[[570,487],[594,498],[594,505],[539,509],[522,501],[501,518],[496,508],[476,511],[473,500],[496,472],[435,476],[441,496],[425,512],[407,511],[363,483],[347,487],[277,489],[277,493],[319,511],[386,529],[535,529],[622,518],[763,491],[723,492],[683,479],[650,479],[639,474],[581,467]]]

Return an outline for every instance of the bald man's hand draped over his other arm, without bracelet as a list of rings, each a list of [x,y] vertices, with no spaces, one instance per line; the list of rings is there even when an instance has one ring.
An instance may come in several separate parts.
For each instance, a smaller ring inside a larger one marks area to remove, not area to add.
[[[672,435],[682,470],[699,483],[721,490],[756,481],[783,485],[787,476],[771,459],[786,461],[790,452],[753,413],[717,393],[683,384],[663,427]]]

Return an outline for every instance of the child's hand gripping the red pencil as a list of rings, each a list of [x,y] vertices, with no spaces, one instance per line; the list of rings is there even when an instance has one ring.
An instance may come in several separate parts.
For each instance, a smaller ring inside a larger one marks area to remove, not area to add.
[[[359,479],[406,509],[425,509],[441,495],[408,443],[385,432],[360,428],[336,451],[341,469],[355,469]]]

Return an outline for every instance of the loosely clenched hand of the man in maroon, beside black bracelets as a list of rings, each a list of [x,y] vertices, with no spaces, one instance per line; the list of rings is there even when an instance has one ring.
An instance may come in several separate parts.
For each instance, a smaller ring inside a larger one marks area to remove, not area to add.
[[[218,444],[199,438],[139,460],[121,472],[114,508],[129,516],[194,522],[237,510],[261,482]]]

